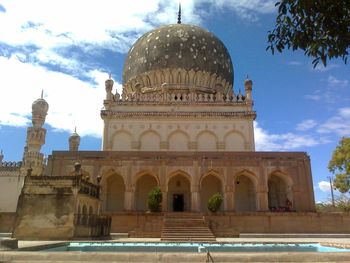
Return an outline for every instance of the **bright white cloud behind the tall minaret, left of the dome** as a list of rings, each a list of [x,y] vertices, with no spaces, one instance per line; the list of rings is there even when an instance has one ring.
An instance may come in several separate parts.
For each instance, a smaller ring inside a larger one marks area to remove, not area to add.
[[[105,96],[106,73],[88,72],[97,83],[94,87],[70,75],[23,63],[15,56],[0,57],[0,72],[0,125],[27,125],[31,103],[44,89],[50,106],[47,124],[66,131],[77,126],[82,136],[101,136],[100,110]],[[115,86],[120,85],[116,83]]]

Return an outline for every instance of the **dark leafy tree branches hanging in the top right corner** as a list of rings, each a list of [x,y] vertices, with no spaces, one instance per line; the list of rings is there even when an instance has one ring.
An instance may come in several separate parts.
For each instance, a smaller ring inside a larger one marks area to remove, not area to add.
[[[327,59],[347,63],[350,48],[350,0],[281,0],[275,28],[268,33],[272,54],[301,49],[314,67]]]

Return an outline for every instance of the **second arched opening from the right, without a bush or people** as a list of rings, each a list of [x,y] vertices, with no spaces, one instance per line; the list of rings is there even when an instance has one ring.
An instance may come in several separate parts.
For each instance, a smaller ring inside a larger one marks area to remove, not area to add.
[[[245,175],[239,175],[235,182],[236,212],[256,211],[256,194],[253,181]]]

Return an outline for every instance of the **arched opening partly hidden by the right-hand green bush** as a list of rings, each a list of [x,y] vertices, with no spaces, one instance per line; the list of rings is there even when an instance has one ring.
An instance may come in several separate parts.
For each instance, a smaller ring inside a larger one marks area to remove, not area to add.
[[[216,193],[222,193],[221,180],[214,175],[207,175],[201,181],[201,211],[207,212],[207,203],[210,197]],[[221,204],[220,211],[223,210],[223,205]]]

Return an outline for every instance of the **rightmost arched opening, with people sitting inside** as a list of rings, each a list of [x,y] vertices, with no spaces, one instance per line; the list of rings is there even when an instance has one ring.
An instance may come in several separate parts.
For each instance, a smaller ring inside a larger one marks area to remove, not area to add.
[[[271,211],[285,211],[292,208],[292,196],[288,184],[278,175],[271,175],[268,180],[268,200]],[[288,201],[290,203],[288,203]]]

